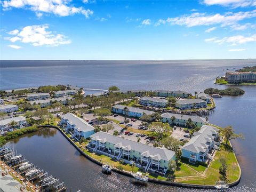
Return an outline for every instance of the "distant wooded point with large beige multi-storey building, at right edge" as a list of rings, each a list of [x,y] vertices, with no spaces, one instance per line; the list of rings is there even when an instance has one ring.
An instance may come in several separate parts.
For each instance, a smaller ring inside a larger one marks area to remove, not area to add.
[[[256,66],[226,72],[225,77],[216,78],[214,83],[221,85],[256,85]]]

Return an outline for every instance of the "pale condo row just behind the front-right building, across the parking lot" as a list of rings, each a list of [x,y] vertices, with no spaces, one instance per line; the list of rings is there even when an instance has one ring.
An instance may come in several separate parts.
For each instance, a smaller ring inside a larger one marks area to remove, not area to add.
[[[206,124],[205,118],[198,117],[198,116],[164,113],[161,115],[161,117],[162,117],[161,122],[174,124],[178,126],[186,126],[186,123],[188,122],[189,118],[197,127],[201,127],[202,125]],[[175,119],[173,118],[174,119],[173,121],[172,121],[172,117],[175,117]]]

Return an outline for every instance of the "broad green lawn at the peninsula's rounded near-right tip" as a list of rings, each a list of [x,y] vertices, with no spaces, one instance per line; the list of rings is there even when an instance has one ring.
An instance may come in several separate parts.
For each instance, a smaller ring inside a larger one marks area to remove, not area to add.
[[[219,162],[220,158],[225,158],[227,161],[227,182],[230,183],[236,181],[239,177],[240,170],[234,151],[230,146],[226,147],[223,143],[220,146],[220,150],[217,151],[214,160],[202,177],[195,176],[188,178],[177,178],[176,181],[199,185],[215,185],[215,181],[221,180],[221,175],[219,174],[219,167],[221,166],[221,163]]]

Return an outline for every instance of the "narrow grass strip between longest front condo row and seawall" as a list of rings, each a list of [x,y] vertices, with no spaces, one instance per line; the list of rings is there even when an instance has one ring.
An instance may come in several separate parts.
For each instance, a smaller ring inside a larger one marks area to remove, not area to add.
[[[113,167],[118,167],[118,166],[122,166],[124,171],[133,171],[133,172],[137,172],[139,171],[139,167],[134,167],[132,168],[131,165],[129,164],[121,164],[120,162],[117,162],[115,159],[108,157],[106,155],[102,155],[102,154],[97,154],[97,153],[91,153],[88,149],[83,150],[84,153],[86,153],[87,155],[91,156],[92,158],[96,159],[97,161],[100,161],[102,163],[109,163],[111,166]]]

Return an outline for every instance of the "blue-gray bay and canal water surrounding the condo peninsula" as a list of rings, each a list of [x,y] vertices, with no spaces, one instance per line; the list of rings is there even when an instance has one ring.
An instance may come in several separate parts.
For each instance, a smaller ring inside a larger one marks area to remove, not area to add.
[[[255,65],[255,60],[193,61],[1,61],[0,89],[15,89],[45,84],[72,84],[85,88],[170,89],[191,93],[214,85],[223,69]],[[239,97],[215,99],[217,108],[210,114],[211,123],[232,125],[244,140],[232,142],[242,179],[230,191],[256,191],[256,87],[241,87]],[[44,130],[12,142],[30,162],[57,176],[71,191],[193,191],[191,189],[148,183],[136,186],[130,178],[113,173],[104,175],[100,166],[81,156],[57,130]],[[194,190],[198,191],[198,190]],[[203,191],[203,190],[202,190]]]

